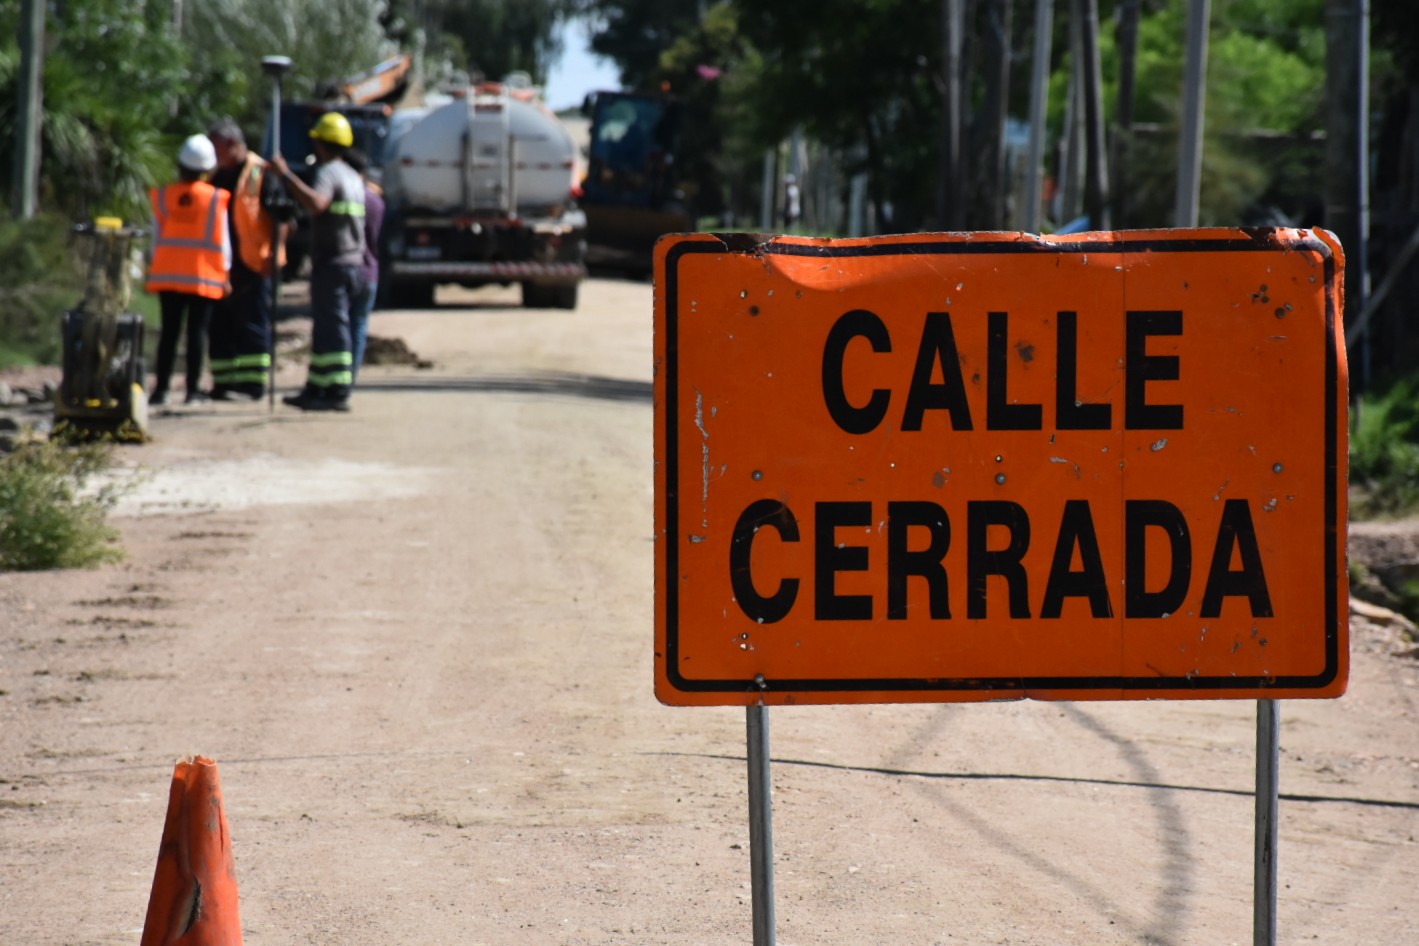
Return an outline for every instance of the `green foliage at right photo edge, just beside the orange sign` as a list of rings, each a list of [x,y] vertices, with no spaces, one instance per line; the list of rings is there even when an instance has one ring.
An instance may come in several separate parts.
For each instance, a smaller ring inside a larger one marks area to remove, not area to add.
[[[1401,515],[1419,506],[1419,376],[1376,386],[1361,399],[1349,440],[1357,518]]]

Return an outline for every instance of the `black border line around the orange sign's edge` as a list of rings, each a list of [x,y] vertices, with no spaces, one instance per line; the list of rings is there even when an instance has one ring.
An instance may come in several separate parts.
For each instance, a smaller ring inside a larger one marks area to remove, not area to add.
[[[711,240],[687,240],[666,252],[666,678],[685,694],[744,692],[1016,692],[1026,691],[1267,691],[1320,689],[1340,672],[1340,535],[1337,513],[1340,471],[1337,467],[1338,421],[1335,399],[1340,390],[1340,353],[1335,342],[1335,257],[1318,238],[1283,240],[1274,230],[1239,231],[1233,240],[1117,240],[1051,244],[1037,240],[972,240],[969,243],[887,244],[780,244],[748,234],[707,234]],[[1325,261],[1325,668],[1314,677],[975,677],[975,678],[887,678],[887,679],[690,679],[680,672],[680,260],[691,254],[766,254],[785,257],[890,257],[890,255],[978,255],[978,254],[1088,254],[1088,252],[1219,252],[1311,251]],[[1243,699],[1260,694],[1246,694]]]

